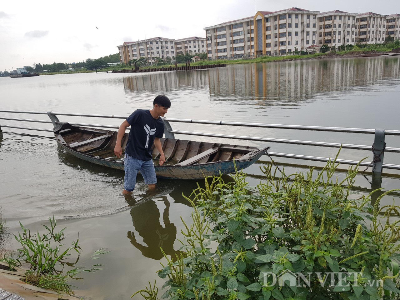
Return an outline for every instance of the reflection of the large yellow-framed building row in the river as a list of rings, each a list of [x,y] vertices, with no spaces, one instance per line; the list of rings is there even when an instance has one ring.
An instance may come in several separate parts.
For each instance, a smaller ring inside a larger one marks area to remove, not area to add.
[[[255,105],[296,106],[316,93],[374,86],[382,79],[398,77],[400,59],[304,60],[228,66],[209,72],[212,100],[221,101],[220,96],[226,95],[226,100],[255,98]]]

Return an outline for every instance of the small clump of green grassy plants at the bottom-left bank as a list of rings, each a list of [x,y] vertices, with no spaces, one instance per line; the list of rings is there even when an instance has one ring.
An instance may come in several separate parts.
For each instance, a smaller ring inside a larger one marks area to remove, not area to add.
[[[68,234],[64,234],[66,228],[60,231],[56,230],[57,221],[54,216],[49,218],[49,222],[49,226],[42,225],[46,229],[46,232],[42,234],[39,231],[31,234],[30,230],[20,222],[22,232],[14,235],[20,248],[3,258],[2,261],[9,265],[10,270],[28,264],[29,269],[25,272],[24,281],[29,284],[54,290],[59,295],[73,295],[72,287],[74,286],[68,282],[72,279],[80,279],[78,275],[81,272],[102,270],[98,266],[104,266],[104,264],[93,264],[90,268],[76,266],[81,254],[79,238],[73,241],[71,246],[62,244],[68,236]],[[109,252],[99,249],[90,258],[96,260],[99,258],[98,255]],[[76,253],[76,257],[71,259],[73,253]],[[64,271],[66,266],[68,266],[68,270]]]

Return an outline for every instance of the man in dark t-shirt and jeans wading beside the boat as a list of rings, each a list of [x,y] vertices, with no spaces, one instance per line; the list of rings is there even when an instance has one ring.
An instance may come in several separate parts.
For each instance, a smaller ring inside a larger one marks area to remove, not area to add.
[[[124,190],[122,194],[130,194],[135,188],[136,175],[140,170],[144,182],[149,189],[156,187],[157,178],[154,170],[152,144],[160,152],[160,166],[165,162],[160,138],[164,134],[164,122],[160,118],[171,107],[171,102],[165,95],[158,95],[153,101],[152,110],[135,110],[118,129],[114,154],[120,158],[122,155],[121,141],[127,127],[130,127],[128,142],[124,156]]]

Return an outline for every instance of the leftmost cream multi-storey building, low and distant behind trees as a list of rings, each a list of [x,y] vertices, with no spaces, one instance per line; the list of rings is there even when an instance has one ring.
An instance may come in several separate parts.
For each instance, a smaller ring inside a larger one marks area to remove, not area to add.
[[[147,58],[148,62],[155,62],[156,58],[165,60],[175,56],[174,39],[149,38],[137,42],[124,42],[117,46],[120,53],[120,62],[127,64],[130,60]]]

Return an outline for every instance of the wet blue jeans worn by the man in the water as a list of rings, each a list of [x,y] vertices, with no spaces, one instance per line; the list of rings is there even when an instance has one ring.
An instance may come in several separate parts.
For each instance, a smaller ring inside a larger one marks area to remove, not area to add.
[[[124,156],[124,189],[132,192],[136,184],[136,176],[140,171],[146,184],[156,184],[157,177],[153,160],[140,160],[125,153]]]

